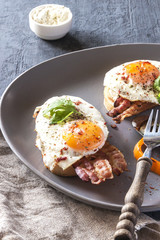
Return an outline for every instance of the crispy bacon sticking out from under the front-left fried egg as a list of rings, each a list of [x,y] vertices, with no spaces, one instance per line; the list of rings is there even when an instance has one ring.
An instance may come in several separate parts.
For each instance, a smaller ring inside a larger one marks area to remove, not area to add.
[[[113,173],[120,175],[127,170],[123,154],[109,142],[95,154],[83,157],[74,167],[83,181],[91,181],[93,184],[112,179]]]

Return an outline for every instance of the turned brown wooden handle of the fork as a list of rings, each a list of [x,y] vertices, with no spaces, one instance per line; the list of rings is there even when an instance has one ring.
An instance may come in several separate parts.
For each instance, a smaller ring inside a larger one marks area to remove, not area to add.
[[[124,200],[125,205],[121,210],[119,222],[116,227],[114,235],[115,240],[134,239],[134,228],[137,222],[137,217],[140,213],[140,207],[143,202],[144,186],[151,166],[151,159],[147,157],[139,158],[135,177],[126,194]]]

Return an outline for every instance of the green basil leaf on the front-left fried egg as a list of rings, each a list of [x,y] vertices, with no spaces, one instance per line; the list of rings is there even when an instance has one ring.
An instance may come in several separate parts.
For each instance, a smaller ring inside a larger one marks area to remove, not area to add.
[[[43,112],[43,116],[50,119],[50,124],[64,123],[83,118],[83,115],[77,111],[74,103],[65,98],[51,103]]]

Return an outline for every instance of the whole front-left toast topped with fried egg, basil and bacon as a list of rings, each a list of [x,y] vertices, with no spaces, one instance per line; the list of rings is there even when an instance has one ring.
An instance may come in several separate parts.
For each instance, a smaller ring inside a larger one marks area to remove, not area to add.
[[[36,146],[51,172],[99,184],[126,170],[123,154],[107,141],[102,115],[83,99],[50,98],[35,109],[34,118]]]

